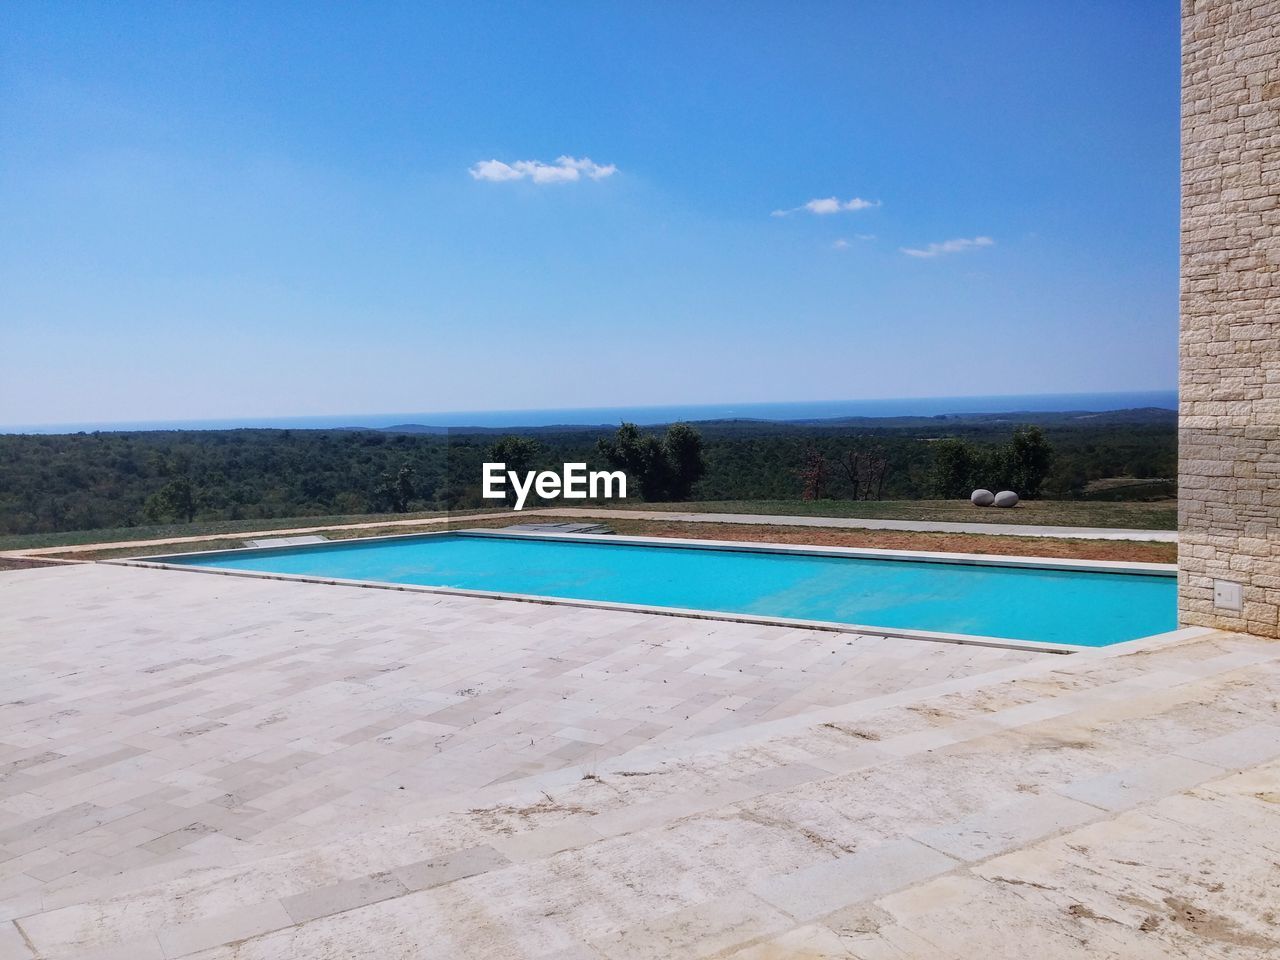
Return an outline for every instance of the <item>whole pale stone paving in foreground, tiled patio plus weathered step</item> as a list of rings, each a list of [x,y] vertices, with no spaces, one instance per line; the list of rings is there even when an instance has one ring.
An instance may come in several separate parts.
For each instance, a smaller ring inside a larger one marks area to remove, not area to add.
[[[0,643],[0,957],[1280,951],[1274,641],[82,566]]]

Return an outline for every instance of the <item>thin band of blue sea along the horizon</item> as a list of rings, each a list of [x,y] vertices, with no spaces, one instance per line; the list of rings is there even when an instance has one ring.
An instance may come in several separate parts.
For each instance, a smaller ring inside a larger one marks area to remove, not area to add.
[[[947,413],[1094,412],[1161,407],[1178,410],[1178,390],[1120,393],[1036,393],[986,397],[905,397],[897,399],[794,401],[781,403],[685,403],[660,406],[566,407],[552,410],[468,410],[417,413],[333,413],[325,416],[224,417],[210,420],[86,421],[0,426],[0,433],[72,434],[115,430],[234,430],[278,428],[323,430],[422,426],[594,426],[669,424],[678,420],[832,420],[837,417],[942,416]]]

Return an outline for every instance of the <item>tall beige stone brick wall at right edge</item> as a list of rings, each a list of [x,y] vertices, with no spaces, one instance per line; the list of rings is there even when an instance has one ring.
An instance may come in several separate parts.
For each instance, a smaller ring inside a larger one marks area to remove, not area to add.
[[[1180,343],[1181,621],[1280,636],[1280,0],[1183,0]]]

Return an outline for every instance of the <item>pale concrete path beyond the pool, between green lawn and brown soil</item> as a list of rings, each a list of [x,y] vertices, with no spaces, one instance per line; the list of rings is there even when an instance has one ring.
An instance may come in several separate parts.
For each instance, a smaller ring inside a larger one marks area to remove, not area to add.
[[[525,515],[535,511],[525,511]],[[922,534],[983,534],[987,536],[1051,536],[1066,540],[1148,540],[1178,543],[1175,530],[1124,530],[1093,526],[1033,526],[1030,524],[960,524],[945,520],[872,520],[864,517],[773,517],[763,513],[672,513],[648,509],[596,507],[548,507],[545,516],[593,520],[668,520],[682,524],[764,524],[769,526],[818,526],[840,530],[908,530]],[[988,513],[992,511],[988,509]],[[996,511],[998,516],[998,511]]]

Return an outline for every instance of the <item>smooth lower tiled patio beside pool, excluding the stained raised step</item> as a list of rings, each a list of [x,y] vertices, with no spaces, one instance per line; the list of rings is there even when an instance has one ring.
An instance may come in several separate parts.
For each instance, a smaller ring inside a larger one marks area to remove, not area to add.
[[[104,564],[0,591],[0,876],[45,884],[1037,657]]]

